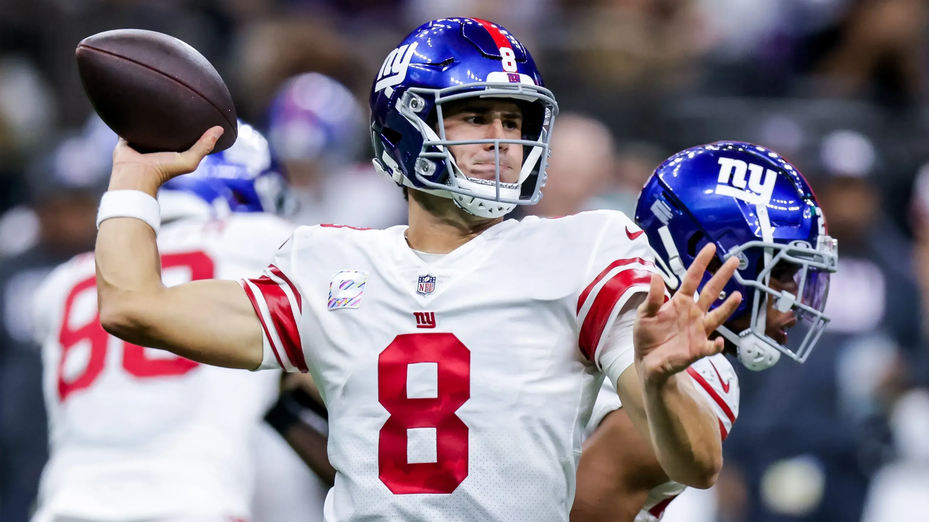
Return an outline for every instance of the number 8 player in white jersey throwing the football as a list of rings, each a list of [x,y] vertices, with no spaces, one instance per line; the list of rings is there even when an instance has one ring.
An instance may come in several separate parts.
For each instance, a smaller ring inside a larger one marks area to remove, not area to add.
[[[567,520],[604,374],[668,477],[712,485],[718,423],[680,372],[723,349],[708,336],[739,292],[709,307],[739,259],[695,301],[702,248],[665,299],[620,212],[504,221],[540,197],[557,105],[487,20],[417,28],[370,103],[375,166],[406,187],[410,225],[300,227],[240,284],[164,286],[155,261],[152,196],[221,129],[180,154],[120,142],[98,214],[104,327],[200,363],[310,372],[329,415],[329,521]]]

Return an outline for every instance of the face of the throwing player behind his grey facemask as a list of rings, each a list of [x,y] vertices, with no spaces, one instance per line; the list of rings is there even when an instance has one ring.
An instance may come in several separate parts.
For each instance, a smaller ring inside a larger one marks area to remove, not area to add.
[[[445,139],[522,139],[522,110],[504,99],[464,99],[442,108]],[[495,170],[493,144],[450,146],[455,163],[465,176],[492,180]],[[500,181],[517,183],[522,166],[521,145],[500,144]]]

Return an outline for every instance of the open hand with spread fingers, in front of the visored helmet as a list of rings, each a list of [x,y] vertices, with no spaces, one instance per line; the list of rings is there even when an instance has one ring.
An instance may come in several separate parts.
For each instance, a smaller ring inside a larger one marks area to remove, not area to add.
[[[668,377],[698,359],[723,350],[723,338],[710,340],[709,336],[735,312],[741,294],[733,292],[713,312],[707,311],[719,299],[719,293],[739,267],[739,260],[727,260],[703,286],[700,299],[694,300],[715,251],[712,243],[700,250],[680,288],[667,302],[664,302],[664,280],[660,274],[652,274],[648,299],[638,308],[633,334],[639,378],[644,385],[661,386]]]

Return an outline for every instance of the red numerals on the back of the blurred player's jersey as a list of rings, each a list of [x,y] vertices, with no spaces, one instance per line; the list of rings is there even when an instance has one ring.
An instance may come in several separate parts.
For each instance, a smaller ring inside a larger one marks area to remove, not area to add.
[[[213,260],[203,252],[185,252],[181,254],[166,254],[162,256],[162,269],[184,267],[190,269],[190,279],[209,279],[214,274]],[[64,317],[61,319],[59,332],[59,345],[61,346],[61,359],[58,371],[59,401],[65,401],[69,395],[80,389],[90,388],[100,373],[103,372],[107,357],[107,343],[110,334],[100,325],[97,313],[85,325],[72,329],[71,320],[74,312],[74,301],[85,290],[97,285],[97,278],[88,277],[75,285],[65,300]],[[65,378],[64,366],[68,360],[69,352],[82,343],[89,343],[90,356],[83,373],[71,378]],[[170,359],[149,359],[145,349],[135,344],[123,343],[123,368],[132,376],[140,378],[157,376],[183,376],[197,367],[197,363],[173,357]]]

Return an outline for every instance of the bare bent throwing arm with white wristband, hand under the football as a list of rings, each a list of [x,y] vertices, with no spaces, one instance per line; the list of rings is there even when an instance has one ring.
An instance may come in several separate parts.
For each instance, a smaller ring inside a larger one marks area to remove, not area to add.
[[[193,172],[213,150],[221,127],[208,130],[186,152],[140,154],[124,140],[113,150],[108,196],[111,214],[157,219],[154,197],[169,179]],[[115,192],[125,191],[125,192]],[[106,212],[101,205],[101,217]],[[165,287],[155,232],[137,218],[111,218],[97,235],[97,291],[100,323],[116,337],[173,351],[200,363],[255,369],[262,360],[261,324],[242,286],[204,280]]]

